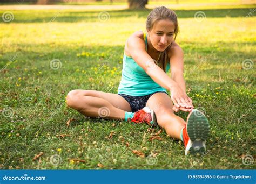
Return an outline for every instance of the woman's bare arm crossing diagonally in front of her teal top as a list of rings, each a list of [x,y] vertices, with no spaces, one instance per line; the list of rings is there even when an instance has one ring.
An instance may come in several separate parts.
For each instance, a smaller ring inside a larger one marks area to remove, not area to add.
[[[180,88],[176,81],[171,79],[160,67],[158,67],[151,56],[147,54],[145,51],[145,43],[142,38],[139,38],[138,35],[134,33],[127,40],[127,48],[134,61],[145,70],[147,75],[149,75],[154,82],[171,91],[172,101],[177,107],[192,108],[190,99],[184,90]]]

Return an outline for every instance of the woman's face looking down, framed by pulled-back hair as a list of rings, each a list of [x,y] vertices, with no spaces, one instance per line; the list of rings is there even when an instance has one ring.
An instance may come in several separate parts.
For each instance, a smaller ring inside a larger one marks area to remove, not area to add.
[[[163,52],[173,41],[175,25],[170,20],[159,20],[147,31],[154,49]]]

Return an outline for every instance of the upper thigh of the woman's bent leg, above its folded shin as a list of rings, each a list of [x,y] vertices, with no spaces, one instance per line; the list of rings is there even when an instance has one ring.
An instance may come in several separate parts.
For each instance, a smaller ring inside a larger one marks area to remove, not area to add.
[[[103,91],[96,91],[96,90],[83,90],[83,89],[72,90],[70,91],[69,94],[75,95],[76,97],[78,97],[79,95],[83,95],[83,96],[92,96],[92,97],[102,98],[110,102],[116,108],[119,108],[125,111],[131,110],[130,104],[122,96],[119,96],[118,94],[106,93]]]

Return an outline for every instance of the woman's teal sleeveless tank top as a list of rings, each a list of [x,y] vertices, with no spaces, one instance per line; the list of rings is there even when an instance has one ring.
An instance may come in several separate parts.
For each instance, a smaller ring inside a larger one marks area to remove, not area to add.
[[[147,34],[144,33],[144,40],[147,50]],[[170,69],[170,63],[167,63],[165,73]],[[118,94],[131,96],[144,96],[165,91],[165,88],[154,82],[145,70],[140,67],[131,57],[123,57],[122,79],[118,87]]]

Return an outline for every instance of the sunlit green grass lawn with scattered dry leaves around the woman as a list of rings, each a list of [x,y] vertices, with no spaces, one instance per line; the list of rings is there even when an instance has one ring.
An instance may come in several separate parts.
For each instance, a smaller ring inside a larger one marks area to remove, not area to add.
[[[187,94],[211,124],[206,154],[188,157],[183,143],[165,132],[163,140],[149,141],[159,127],[152,132],[146,124],[86,118],[65,105],[72,89],[117,93],[125,40],[145,30],[149,10],[111,10],[105,22],[98,19],[100,10],[8,10],[15,18],[0,23],[0,167],[255,168],[242,163],[246,154],[255,158],[255,66],[242,67],[256,59],[254,8],[176,10]],[[0,8],[1,15],[5,11]],[[206,19],[194,19],[197,11]],[[61,62],[56,70],[53,59]],[[67,127],[70,118],[75,121]]]

